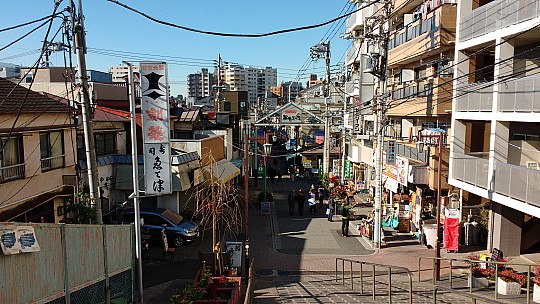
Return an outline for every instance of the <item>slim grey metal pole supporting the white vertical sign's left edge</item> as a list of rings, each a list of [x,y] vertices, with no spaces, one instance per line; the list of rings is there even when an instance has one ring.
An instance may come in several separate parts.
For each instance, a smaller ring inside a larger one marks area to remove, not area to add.
[[[126,61],[128,66],[128,88],[129,88],[129,111],[131,123],[131,165],[133,167],[133,211],[135,213],[135,259],[137,262],[137,289],[139,292],[139,303],[143,303],[143,280],[142,280],[142,250],[141,250],[141,209],[139,201],[139,162],[137,155],[137,122],[135,117],[135,84],[133,83],[133,66]]]

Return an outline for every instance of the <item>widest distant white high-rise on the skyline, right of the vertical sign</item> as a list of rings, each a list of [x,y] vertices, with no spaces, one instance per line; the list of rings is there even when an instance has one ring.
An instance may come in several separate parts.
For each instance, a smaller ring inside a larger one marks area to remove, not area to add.
[[[221,81],[231,91],[248,91],[253,106],[258,98],[264,98],[265,92],[270,92],[271,86],[277,85],[277,69],[226,64],[221,67]]]

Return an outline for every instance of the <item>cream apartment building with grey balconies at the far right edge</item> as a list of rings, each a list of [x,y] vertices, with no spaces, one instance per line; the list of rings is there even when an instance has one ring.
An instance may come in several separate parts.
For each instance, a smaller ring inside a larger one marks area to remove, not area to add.
[[[510,256],[539,241],[539,27],[538,1],[457,6],[449,183],[490,209],[488,249]]]

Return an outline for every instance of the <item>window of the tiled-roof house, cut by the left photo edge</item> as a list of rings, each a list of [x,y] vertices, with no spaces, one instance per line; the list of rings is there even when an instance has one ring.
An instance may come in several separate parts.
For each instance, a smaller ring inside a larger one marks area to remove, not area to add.
[[[0,139],[0,183],[24,178],[23,159],[22,136]]]

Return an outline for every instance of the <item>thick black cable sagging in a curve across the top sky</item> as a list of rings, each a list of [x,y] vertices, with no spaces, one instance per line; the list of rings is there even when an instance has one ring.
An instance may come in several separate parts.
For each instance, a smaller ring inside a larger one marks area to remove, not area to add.
[[[273,35],[278,35],[278,34],[285,34],[285,33],[291,33],[291,32],[298,32],[298,31],[303,31],[303,30],[308,30],[308,29],[314,29],[314,28],[318,28],[318,27],[322,27],[322,26],[325,26],[327,24],[330,24],[330,23],[333,23],[337,20],[340,20],[340,19],[343,19],[345,17],[348,17],[358,11],[361,11],[362,9],[370,6],[370,5],[373,5],[375,3],[378,3],[380,2],[381,0],[376,0],[376,1],[373,1],[371,3],[368,3],[364,6],[362,6],[361,8],[358,8],[350,13],[347,13],[347,14],[344,14],[344,15],[341,15],[341,16],[338,16],[334,19],[331,19],[331,20],[328,20],[328,21],[325,21],[325,22],[321,22],[321,23],[317,23],[317,24],[313,24],[313,25],[306,25],[306,26],[301,26],[301,27],[295,27],[295,28],[290,28],[290,29],[283,29],[283,30],[277,30],[277,31],[273,31],[273,32],[268,32],[268,33],[262,33],[262,34],[233,34],[233,33],[222,33],[222,32],[213,32],[213,31],[205,31],[205,30],[199,30],[199,29],[195,29],[195,28],[191,28],[191,27],[187,27],[187,26],[182,26],[182,25],[177,25],[177,24],[174,24],[174,23],[171,23],[171,22],[167,22],[167,21],[162,21],[162,20],[159,20],[157,18],[154,18],[144,12],[141,12],[135,8],[132,8],[126,4],[123,4],[123,3],[120,3],[119,1],[117,0],[107,0],[108,2],[111,2],[111,3],[114,3],[116,5],[119,5],[127,10],[130,10],[134,13],[137,13],[143,17],[145,17],[146,19],[150,19],[156,23],[159,23],[159,24],[162,24],[162,25],[166,25],[166,26],[170,26],[170,27],[174,27],[174,28],[178,28],[178,29],[182,29],[182,30],[186,30],[186,31],[190,31],[190,32],[194,32],[194,33],[199,33],[199,34],[205,34],[205,35],[213,35],[213,36],[223,36],[223,37],[238,37],[238,38],[261,38],[261,37],[268,37],[268,36],[273,36]]]

